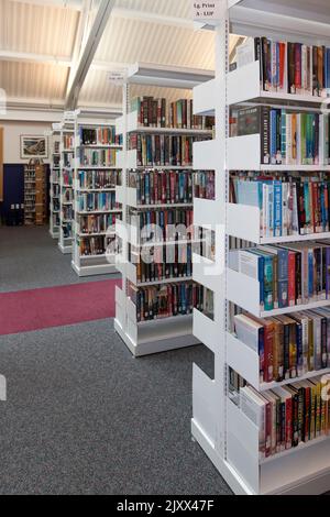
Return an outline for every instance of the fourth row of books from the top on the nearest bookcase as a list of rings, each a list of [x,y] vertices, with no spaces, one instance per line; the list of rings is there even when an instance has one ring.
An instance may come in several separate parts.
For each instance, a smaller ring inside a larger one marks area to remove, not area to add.
[[[330,298],[330,240],[231,250],[230,268],[260,283],[264,311]]]

